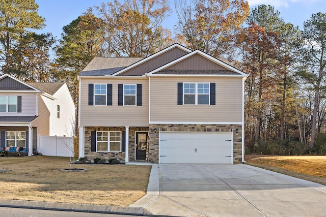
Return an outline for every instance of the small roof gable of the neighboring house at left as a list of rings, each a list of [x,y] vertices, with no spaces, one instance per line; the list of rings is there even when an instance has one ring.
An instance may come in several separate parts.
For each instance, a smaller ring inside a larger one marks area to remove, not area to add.
[[[0,76],[0,90],[39,91],[37,88],[9,74]]]

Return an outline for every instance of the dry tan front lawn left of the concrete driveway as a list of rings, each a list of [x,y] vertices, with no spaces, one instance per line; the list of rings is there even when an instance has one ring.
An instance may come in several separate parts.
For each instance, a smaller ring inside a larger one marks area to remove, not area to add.
[[[61,172],[69,158],[0,158],[1,199],[128,206],[146,194],[151,166],[75,165],[87,172]]]

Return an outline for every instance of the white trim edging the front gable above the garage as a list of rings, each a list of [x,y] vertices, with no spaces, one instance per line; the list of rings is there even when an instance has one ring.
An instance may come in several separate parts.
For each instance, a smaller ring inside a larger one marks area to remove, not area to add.
[[[166,68],[169,68],[170,66],[172,66],[172,65],[174,65],[174,64],[177,64],[177,63],[179,63],[180,61],[182,61],[182,60],[184,60],[184,59],[186,59],[186,58],[188,58],[188,57],[191,57],[191,56],[193,56],[193,55],[195,55],[195,54],[199,54],[199,55],[201,55],[201,56],[203,56],[203,57],[205,57],[205,58],[207,58],[207,59],[213,61],[215,64],[218,64],[218,65],[220,65],[220,66],[222,66],[222,67],[224,67],[224,68],[226,68],[226,69],[228,69],[228,70],[230,70],[230,71],[233,71],[233,72],[239,73],[239,76],[241,76],[241,77],[247,77],[247,76],[248,76],[246,73],[243,73],[243,72],[241,72],[240,70],[238,70],[238,69],[236,69],[236,68],[234,68],[234,67],[232,67],[232,66],[230,66],[230,65],[228,65],[228,64],[226,64],[226,63],[224,63],[223,61],[221,61],[221,60],[219,60],[219,59],[216,59],[216,58],[212,57],[211,55],[208,55],[207,53],[204,53],[203,51],[200,51],[200,50],[195,50],[195,51],[193,51],[193,52],[191,52],[191,53],[188,53],[188,54],[186,54],[186,55],[184,55],[184,56],[181,56],[180,58],[178,58],[178,59],[176,59],[176,60],[174,60],[174,61],[172,61],[172,62],[170,62],[170,63],[168,63],[168,64],[166,64],[166,65],[164,65],[164,66],[161,66],[161,67],[159,67],[159,68],[157,68],[157,69],[155,69],[155,70],[153,70],[153,71],[147,73],[146,75],[148,75],[148,76],[156,76],[156,75],[154,74],[155,72],[159,72],[159,71],[161,71],[161,70],[164,70],[164,69],[166,69]],[[160,76],[162,76],[162,75],[160,75]],[[171,75],[164,75],[164,76],[171,76]],[[180,76],[180,75],[179,75],[179,76]],[[189,76],[189,75],[187,75],[187,76]],[[201,75],[201,76],[207,76],[207,75]],[[224,76],[225,76],[225,75],[224,75]],[[228,76],[230,76],[230,75],[228,75]],[[237,76],[237,77],[238,77],[238,76]]]

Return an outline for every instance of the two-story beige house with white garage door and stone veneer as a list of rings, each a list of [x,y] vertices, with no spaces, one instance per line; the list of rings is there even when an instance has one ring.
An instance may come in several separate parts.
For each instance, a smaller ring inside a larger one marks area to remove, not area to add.
[[[171,45],[95,57],[79,74],[79,157],[152,163],[243,161],[247,74]]]

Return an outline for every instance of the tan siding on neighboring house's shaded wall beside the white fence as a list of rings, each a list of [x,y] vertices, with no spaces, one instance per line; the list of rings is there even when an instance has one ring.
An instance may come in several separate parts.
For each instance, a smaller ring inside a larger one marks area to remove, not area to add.
[[[43,97],[39,96],[39,116],[33,121],[33,127],[38,127],[40,136],[50,135],[50,112],[47,109]]]

